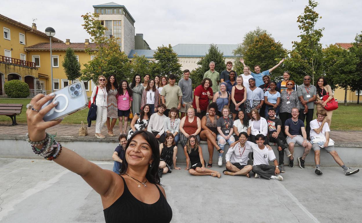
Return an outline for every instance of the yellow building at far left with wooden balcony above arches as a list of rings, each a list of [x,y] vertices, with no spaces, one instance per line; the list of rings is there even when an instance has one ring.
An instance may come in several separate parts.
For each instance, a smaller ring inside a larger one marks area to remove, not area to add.
[[[34,60],[26,47],[48,42],[47,35],[39,30],[35,23],[27,26],[0,14],[0,95],[4,95],[4,83],[21,80],[28,83],[30,89],[41,89],[41,82],[49,80],[47,73],[39,74]],[[63,42],[52,38],[55,43]]]

